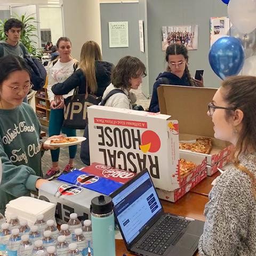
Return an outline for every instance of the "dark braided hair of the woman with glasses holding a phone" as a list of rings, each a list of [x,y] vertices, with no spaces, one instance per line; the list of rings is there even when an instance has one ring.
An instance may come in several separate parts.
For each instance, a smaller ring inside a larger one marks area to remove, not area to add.
[[[185,45],[183,45],[183,44],[171,44],[171,45],[169,45],[166,48],[166,52],[165,52],[166,62],[168,62],[169,55],[179,55],[179,54],[183,55],[185,60],[188,62],[188,50],[187,50]],[[167,67],[167,71],[171,71],[169,66]],[[196,83],[195,83],[194,79],[191,77],[191,75],[189,73],[187,63],[186,63],[184,73],[188,78],[189,84],[191,86],[196,86]]]

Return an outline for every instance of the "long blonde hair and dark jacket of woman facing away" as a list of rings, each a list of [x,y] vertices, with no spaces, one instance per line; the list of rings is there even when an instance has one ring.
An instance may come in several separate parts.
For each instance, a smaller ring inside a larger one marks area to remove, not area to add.
[[[67,94],[78,86],[78,93],[84,94],[87,91],[102,97],[106,87],[110,84],[113,64],[102,61],[100,47],[96,42],[87,41],[84,43],[79,67],[66,81],[53,85],[53,93],[55,95]]]

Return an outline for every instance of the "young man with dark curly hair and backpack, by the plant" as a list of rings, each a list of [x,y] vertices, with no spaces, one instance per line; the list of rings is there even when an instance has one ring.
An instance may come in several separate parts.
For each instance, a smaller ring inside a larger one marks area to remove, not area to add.
[[[22,29],[24,25],[18,19],[11,18],[4,23],[4,33],[7,39],[0,41],[0,57],[12,54],[24,59],[31,73],[33,85],[31,89],[37,91],[45,84],[46,70],[38,59],[30,57],[25,45],[19,42]],[[27,97],[24,101],[27,102]]]

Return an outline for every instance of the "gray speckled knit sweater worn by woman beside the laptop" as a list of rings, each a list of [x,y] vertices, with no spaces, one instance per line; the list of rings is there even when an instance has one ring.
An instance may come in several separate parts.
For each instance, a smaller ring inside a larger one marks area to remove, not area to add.
[[[256,154],[240,159],[256,177]],[[201,256],[256,255],[256,201],[249,175],[231,167],[217,180],[205,206],[206,222],[199,240]]]

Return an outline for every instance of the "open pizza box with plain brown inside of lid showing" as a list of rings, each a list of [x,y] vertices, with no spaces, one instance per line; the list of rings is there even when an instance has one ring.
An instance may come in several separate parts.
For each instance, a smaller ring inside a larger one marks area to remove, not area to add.
[[[212,119],[207,115],[208,104],[216,91],[214,88],[176,85],[162,85],[157,89],[161,114],[171,115],[178,120],[181,141],[212,138],[210,154],[194,153],[205,156],[207,165],[211,166],[220,162],[231,151],[230,143],[214,139]]]

